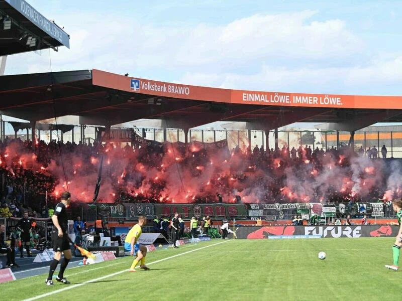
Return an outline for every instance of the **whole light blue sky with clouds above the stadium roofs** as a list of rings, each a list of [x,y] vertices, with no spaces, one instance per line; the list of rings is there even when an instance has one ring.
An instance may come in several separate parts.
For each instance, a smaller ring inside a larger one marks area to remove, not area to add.
[[[29,0],[71,35],[53,71],[224,88],[402,95],[401,1]],[[68,5],[67,5],[68,4]],[[49,53],[6,74],[47,72]]]

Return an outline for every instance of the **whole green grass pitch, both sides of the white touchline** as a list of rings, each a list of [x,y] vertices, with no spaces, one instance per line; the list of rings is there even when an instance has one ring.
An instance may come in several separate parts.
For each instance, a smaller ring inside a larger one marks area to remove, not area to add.
[[[402,282],[401,272],[384,268],[392,263],[392,244],[392,238],[215,240],[148,253],[150,271],[126,271],[132,262],[126,256],[67,268],[69,285],[47,287],[43,274],[0,284],[0,291],[4,300],[53,292],[41,299],[391,300]]]

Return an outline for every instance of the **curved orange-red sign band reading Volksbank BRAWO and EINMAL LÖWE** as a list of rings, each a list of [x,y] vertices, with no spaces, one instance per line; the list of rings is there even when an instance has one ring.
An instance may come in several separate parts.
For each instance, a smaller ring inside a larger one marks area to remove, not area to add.
[[[127,92],[236,104],[289,107],[402,109],[401,96],[360,96],[229,90],[130,78],[92,70],[92,84]]]

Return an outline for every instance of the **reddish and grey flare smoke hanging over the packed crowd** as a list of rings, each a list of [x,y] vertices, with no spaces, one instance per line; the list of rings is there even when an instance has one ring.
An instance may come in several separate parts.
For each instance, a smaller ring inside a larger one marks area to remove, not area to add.
[[[208,144],[208,145],[207,145]],[[398,161],[358,157],[349,148],[309,152],[298,156],[284,147],[230,151],[227,144],[165,143],[126,146],[49,145],[40,142],[35,152],[12,142],[2,154],[2,166],[33,170],[55,182],[48,194],[64,190],[73,200],[92,202],[100,162],[102,181],[98,202],[120,200],[162,203],[217,202],[330,202],[378,201],[400,197]]]

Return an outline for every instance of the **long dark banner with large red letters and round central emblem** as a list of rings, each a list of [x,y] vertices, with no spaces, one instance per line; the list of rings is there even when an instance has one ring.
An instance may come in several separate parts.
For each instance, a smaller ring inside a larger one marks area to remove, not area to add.
[[[246,206],[240,204],[154,204],[155,216],[173,217],[175,213],[182,218],[195,216],[211,216],[211,218],[223,218],[227,216],[247,216]]]

